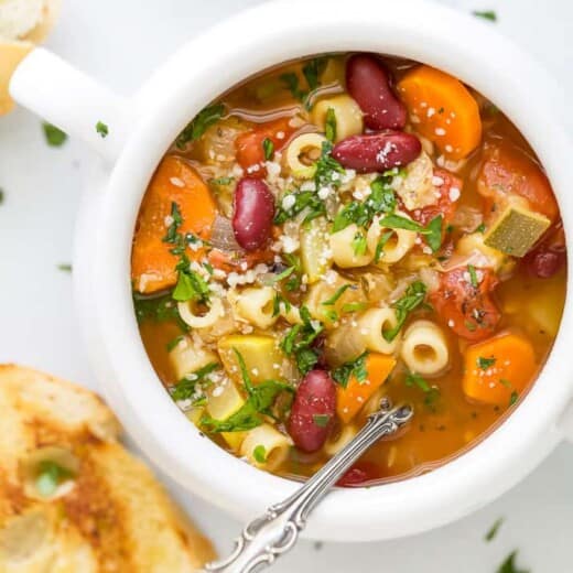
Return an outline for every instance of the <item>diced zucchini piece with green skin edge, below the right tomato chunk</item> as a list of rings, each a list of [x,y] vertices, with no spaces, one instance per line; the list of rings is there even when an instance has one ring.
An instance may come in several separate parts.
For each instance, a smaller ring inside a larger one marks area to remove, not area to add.
[[[484,244],[512,257],[523,257],[550,225],[543,215],[510,205],[491,226]]]

